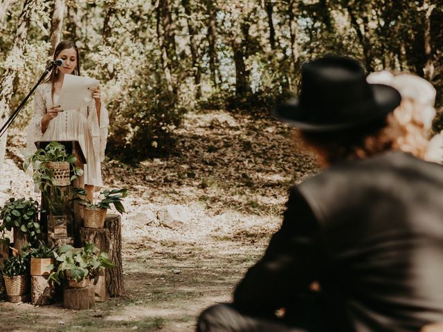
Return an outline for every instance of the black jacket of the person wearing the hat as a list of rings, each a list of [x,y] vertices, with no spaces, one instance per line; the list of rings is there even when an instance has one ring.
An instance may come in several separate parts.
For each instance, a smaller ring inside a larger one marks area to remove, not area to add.
[[[392,152],[292,187],[284,220],[234,304],[291,307],[320,282],[327,331],[419,331],[443,321],[443,167]]]

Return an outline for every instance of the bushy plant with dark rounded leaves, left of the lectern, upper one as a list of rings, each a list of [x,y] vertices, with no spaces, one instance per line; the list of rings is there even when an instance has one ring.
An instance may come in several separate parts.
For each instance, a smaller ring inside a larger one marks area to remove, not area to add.
[[[13,230],[14,246],[22,250],[28,243],[35,243],[42,233],[37,220],[39,212],[39,203],[32,198],[9,199],[0,211],[0,232],[4,236],[6,230]]]

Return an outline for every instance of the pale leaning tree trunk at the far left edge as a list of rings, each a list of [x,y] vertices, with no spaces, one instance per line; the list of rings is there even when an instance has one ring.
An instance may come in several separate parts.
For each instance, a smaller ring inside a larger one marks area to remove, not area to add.
[[[15,33],[14,46],[4,62],[5,71],[0,78],[0,122],[3,124],[10,116],[10,100],[13,94],[13,84],[18,69],[24,68],[24,50],[28,37],[30,16],[33,13],[35,0],[25,0],[19,16]],[[0,170],[3,168],[6,153],[8,132],[0,139]]]

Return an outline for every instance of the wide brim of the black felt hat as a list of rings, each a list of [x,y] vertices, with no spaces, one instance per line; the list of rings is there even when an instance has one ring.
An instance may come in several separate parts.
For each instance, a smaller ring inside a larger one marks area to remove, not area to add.
[[[288,100],[273,111],[273,116],[283,122],[287,122],[291,127],[297,127],[305,131],[337,131],[359,127],[367,122],[385,118],[388,113],[394,111],[400,102],[400,93],[392,86],[384,84],[370,84],[374,96],[374,107],[368,116],[352,119],[347,122],[320,123],[312,122],[307,118],[307,111],[300,105],[298,98]]]

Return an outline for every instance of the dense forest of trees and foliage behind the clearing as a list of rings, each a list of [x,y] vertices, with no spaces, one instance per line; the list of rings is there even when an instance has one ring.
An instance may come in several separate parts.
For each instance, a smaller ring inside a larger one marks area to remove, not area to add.
[[[82,75],[101,82],[111,158],[171,151],[190,110],[269,116],[297,93],[301,64],[327,53],[356,57],[368,72],[416,73],[440,107],[442,26],[442,0],[0,0],[0,119],[60,39],[79,46]],[[28,102],[14,127],[31,112]]]

